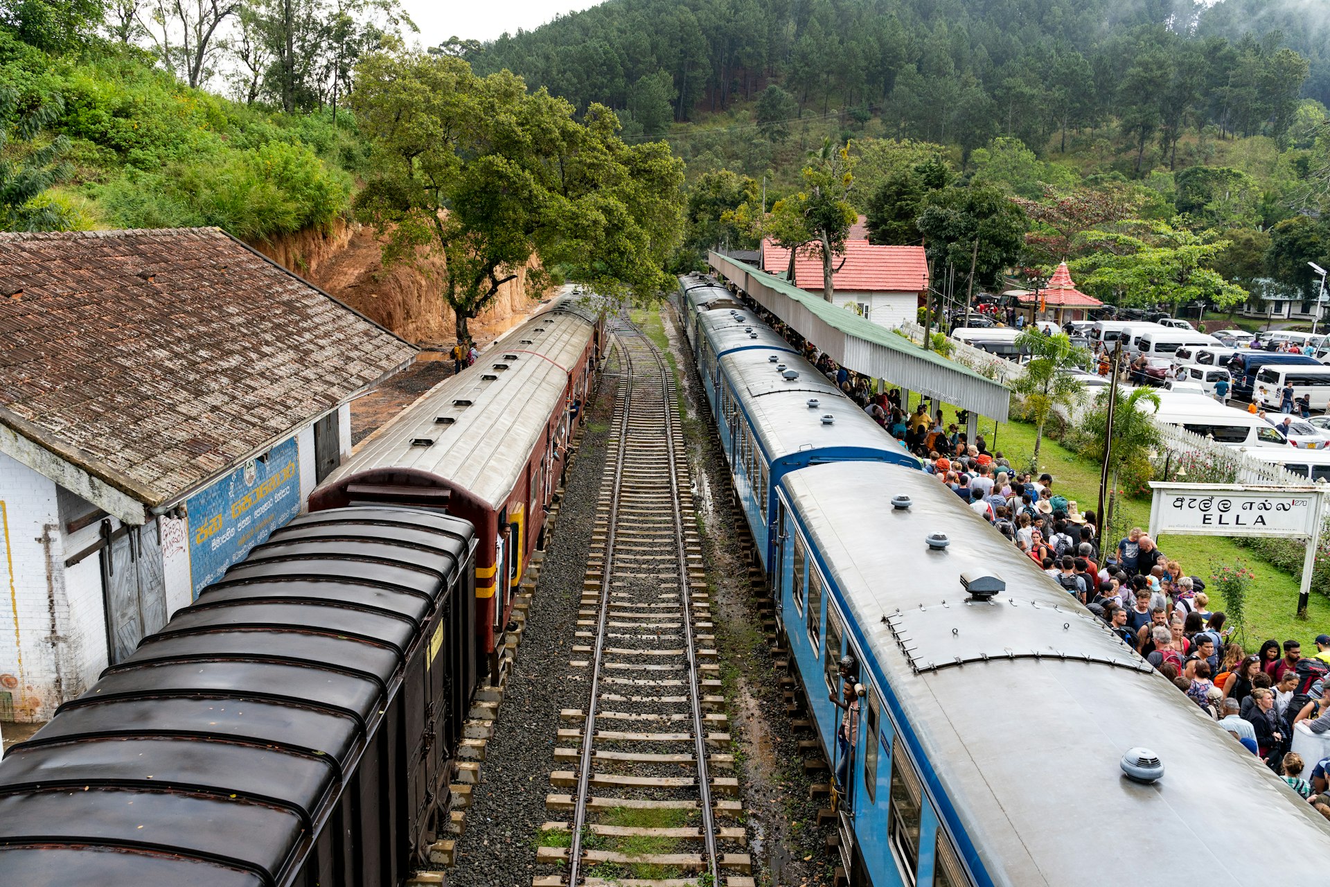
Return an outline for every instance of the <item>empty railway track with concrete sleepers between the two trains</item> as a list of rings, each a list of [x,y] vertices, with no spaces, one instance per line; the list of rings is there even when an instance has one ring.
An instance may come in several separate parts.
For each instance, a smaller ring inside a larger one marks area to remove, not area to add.
[[[535,887],[750,887],[676,380],[626,320]],[[718,774],[718,775],[717,775]],[[568,793],[560,793],[564,789]]]

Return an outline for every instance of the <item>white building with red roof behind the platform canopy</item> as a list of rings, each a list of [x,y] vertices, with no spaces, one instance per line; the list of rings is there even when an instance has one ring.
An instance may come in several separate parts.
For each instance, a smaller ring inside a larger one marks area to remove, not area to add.
[[[783,277],[790,250],[762,241],[762,270]],[[922,246],[878,246],[866,239],[847,239],[845,255],[833,257],[833,302],[884,327],[915,320],[928,293],[928,258]],[[801,249],[794,258],[794,285],[822,293],[822,257],[817,249]]]

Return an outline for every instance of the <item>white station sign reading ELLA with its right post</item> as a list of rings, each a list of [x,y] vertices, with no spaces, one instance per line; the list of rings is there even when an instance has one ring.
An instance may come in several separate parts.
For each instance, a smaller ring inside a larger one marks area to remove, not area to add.
[[[1330,487],[1256,484],[1165,484],[1150,481],[1150,536],[1281,536],[1305,539],[1298,616],[1306,616],[1311,569]]]

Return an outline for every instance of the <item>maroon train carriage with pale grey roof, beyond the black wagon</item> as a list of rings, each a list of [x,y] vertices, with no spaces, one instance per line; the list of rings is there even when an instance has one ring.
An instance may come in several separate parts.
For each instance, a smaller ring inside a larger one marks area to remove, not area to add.
[[[379,428],[310,496],[311,511],[387,503],[475,525],[481,676],[497,673],[513,596],[541,543],[601,335],[593,310],[556,299]]]

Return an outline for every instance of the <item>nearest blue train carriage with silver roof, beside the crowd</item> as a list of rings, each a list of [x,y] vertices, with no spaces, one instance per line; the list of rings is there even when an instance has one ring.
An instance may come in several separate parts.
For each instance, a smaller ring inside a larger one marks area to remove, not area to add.
[[[1330,823],[935,477],[822,459],[767,503],[853,887],[1323,876]]]

